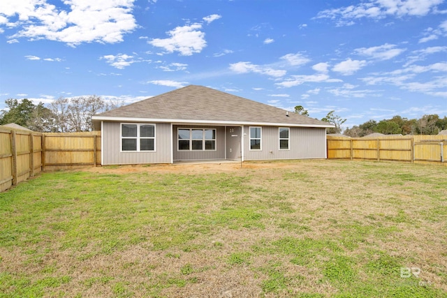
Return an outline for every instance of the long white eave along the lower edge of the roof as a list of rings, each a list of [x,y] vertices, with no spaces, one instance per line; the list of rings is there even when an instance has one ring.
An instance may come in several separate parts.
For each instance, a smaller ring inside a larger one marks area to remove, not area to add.
[[[135,117],[104,117],[93,116],[94,121],[120,121],[120,122],[167,122],[172,124],[214,124],[214,125],[250,125],[250,126],[291,126],[291,127],[314,127],[333,128],[332,124],[293,124],[289,122],[262,122],[262,121],[220,121],[220,120],[198,120],[198,119],[155,119]]]

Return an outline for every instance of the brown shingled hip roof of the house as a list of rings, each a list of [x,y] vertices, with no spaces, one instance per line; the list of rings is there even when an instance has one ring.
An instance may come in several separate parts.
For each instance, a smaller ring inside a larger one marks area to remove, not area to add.
[[[328,122],[196,85],[103,112],[95,115],[93,119],[94,121],[333,127]]]

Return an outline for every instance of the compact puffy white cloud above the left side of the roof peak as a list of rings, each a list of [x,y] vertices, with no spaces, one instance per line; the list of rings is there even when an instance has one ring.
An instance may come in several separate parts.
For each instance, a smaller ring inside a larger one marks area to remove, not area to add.
[[[200,29],[202,29],[202,24],[198,23],[176,27],[167,32],[169,38],[154,38],[148,43],[154,47],[162,47],[168,53],[179,52],[182,56],[191,56],[202,52],[207,46],[205,33]]]

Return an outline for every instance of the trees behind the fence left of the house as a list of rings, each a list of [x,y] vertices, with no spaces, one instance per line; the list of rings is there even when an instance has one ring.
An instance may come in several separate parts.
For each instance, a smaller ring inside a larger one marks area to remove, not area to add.
[[[27,98],[10,98],[5,103],[7,109],[0,114],[0,125],[15,123],[42,133],[94,131],[91,117],[119,106],[94,95],[58,98],[47,106],[35,105]]]

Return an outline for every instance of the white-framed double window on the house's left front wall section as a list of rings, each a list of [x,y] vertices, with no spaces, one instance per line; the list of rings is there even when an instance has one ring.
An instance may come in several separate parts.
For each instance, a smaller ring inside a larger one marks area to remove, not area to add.
[[[122,151],[155,151],[155,124],[121,124]]]

